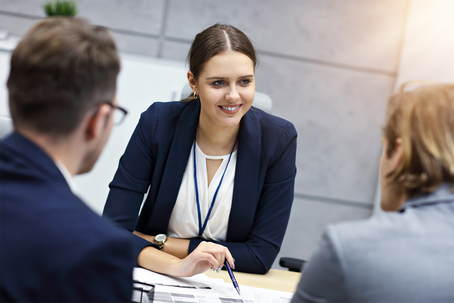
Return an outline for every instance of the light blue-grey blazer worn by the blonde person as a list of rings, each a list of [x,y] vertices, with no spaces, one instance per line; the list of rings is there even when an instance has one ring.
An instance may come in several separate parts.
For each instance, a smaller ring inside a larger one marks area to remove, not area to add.
[[[454,302],[452,188],[328,227],[292,302]]]

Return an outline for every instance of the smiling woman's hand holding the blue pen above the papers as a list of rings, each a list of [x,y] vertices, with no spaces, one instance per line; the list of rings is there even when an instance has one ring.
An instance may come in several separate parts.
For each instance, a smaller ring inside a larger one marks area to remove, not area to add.
[[[178,277],[190,277],[197,273],[204,273],[209,268],[214,270],[221,269],[224,266],[224,259],[232,268],[235,268],[234,259],[227,247],[212,243],[201,242],[196,249],[181,259],[173,268],[173,275]]]

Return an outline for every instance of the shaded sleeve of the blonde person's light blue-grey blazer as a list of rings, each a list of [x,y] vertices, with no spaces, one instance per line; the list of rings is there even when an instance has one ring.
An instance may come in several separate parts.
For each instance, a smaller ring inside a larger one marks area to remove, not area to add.
[[[351,302],[341,258],[333,244],[334,227],[323,234],[318,251],[303,270],[291,302]]]

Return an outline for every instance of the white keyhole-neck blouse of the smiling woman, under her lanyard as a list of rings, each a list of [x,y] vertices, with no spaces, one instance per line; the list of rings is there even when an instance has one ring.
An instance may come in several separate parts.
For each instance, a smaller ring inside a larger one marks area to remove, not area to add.
[[[183,175],[183,180],[178,192],[177,201],[173,207],[168,225],[169,237],[197,238],[199,233],[196,192],[194,183],[194,144]],[[200,150],[196,143],[197,165],[197,189],[199,194],[201,225],[205,222],[210,209],[214,193],[226,168],[230,154],[225,156],[208,156]],[[207,160],[223,159],[217,169],[210,186],[208,186]],[[203,231],[202,238],[225,242],[227,238],[227,225],[232,207],[233,181],[235,179],[235,167],[237,165],[237,150],[232,153],[221,187],[217,192],[207,227]]]

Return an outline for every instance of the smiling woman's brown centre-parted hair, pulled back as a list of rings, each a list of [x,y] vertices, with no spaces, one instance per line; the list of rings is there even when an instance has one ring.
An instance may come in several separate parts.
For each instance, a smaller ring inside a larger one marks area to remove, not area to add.
[[[258,64],[256,50],[247,35],[232,25],[217,23],[198,33],[189,49],[187,61],[194,79],[198,80],[208,60],[224,51],[247,55],[252,60],[254,70]]]

